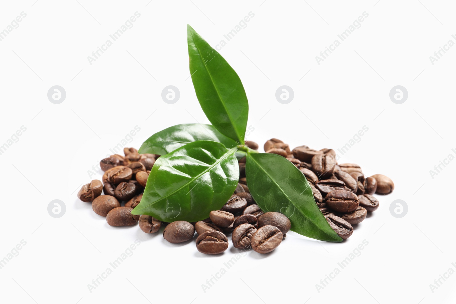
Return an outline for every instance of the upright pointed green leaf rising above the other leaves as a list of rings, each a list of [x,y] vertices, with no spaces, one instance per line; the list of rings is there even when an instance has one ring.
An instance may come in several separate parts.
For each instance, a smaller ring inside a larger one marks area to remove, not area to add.
[[[220,133],[244,144],[249,103],[238,74],[189,25],[187,40],[190,73],[202,110]]]

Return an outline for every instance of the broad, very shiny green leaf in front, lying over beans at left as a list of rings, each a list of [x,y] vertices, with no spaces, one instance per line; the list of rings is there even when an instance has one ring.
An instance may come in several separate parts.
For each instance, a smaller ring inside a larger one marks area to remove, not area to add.
[[[197,222],[219,210],[239,179],[236,147],[199,140],[162,155],[150,171],[144,194],[132,214],[164,222]]]

